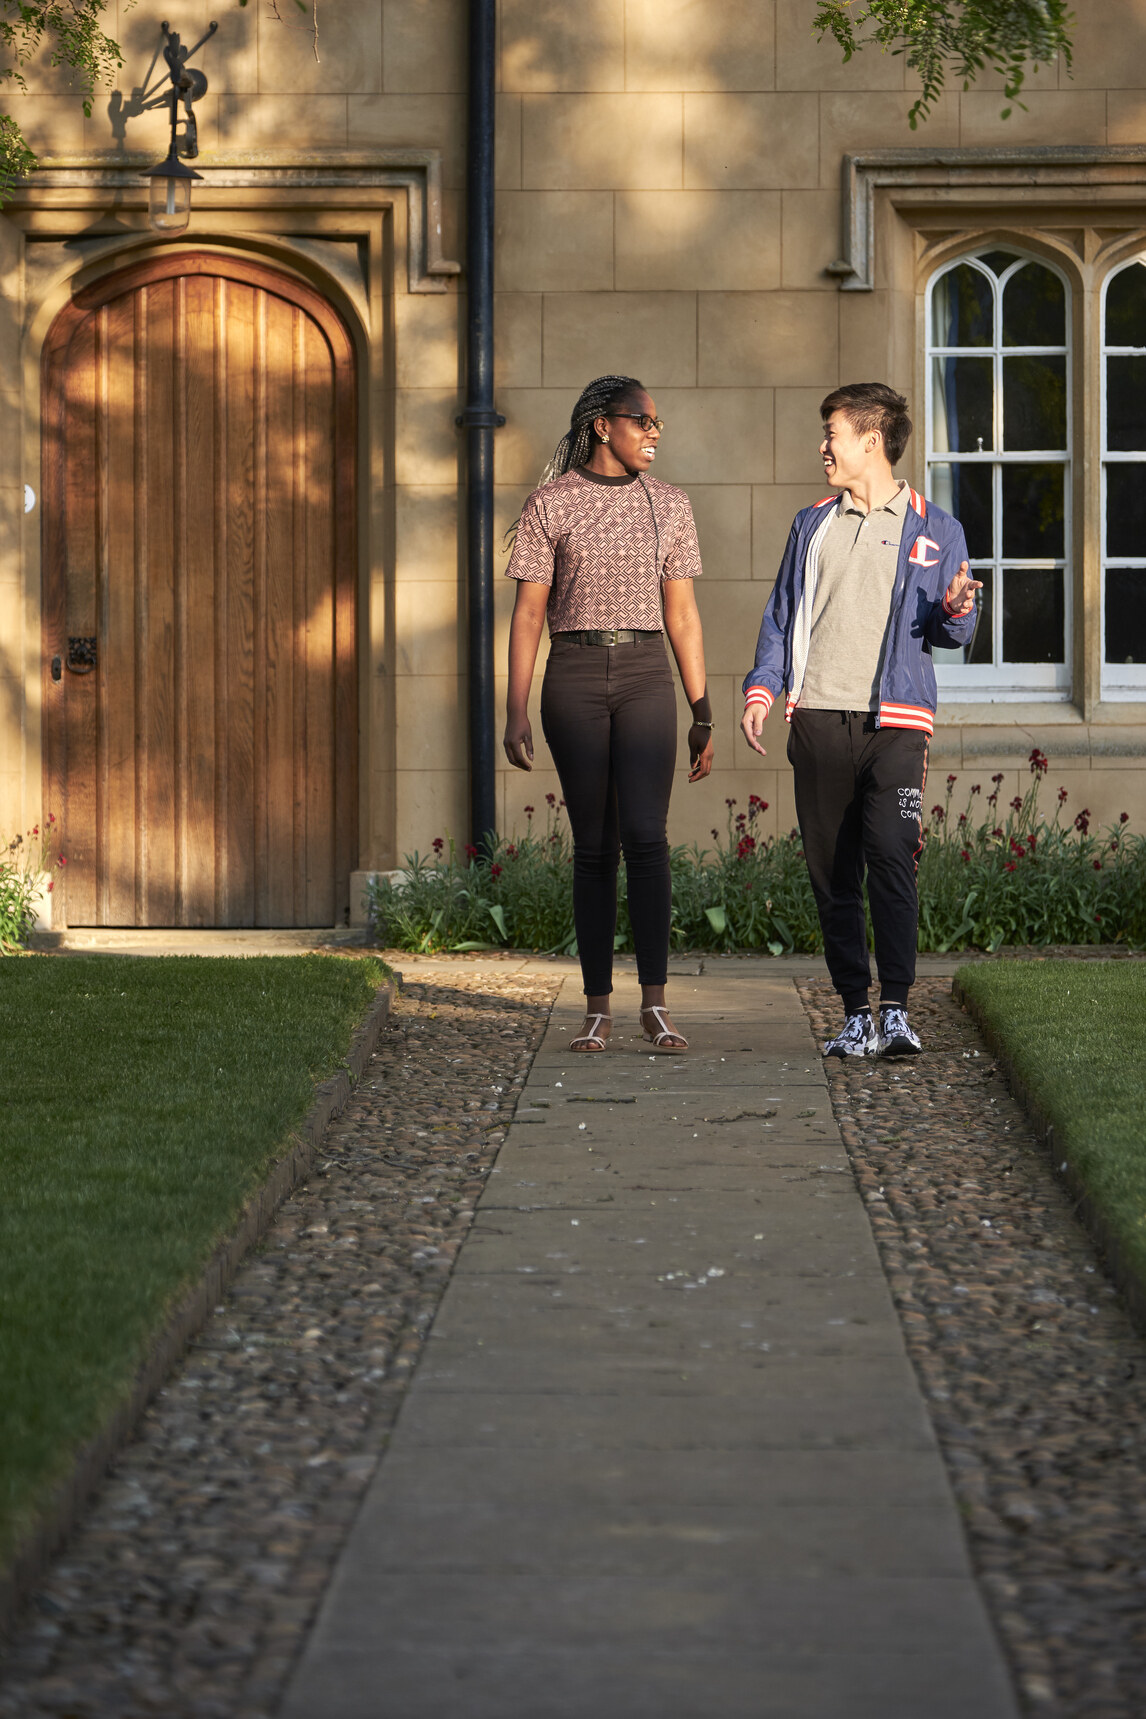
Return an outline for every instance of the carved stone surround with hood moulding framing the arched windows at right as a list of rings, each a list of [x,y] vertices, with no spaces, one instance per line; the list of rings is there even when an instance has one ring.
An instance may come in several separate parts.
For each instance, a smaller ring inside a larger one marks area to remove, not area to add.
[[[960,254],[1014,246],[1055,263],[1072,291],[1074,655],[1069,705],[943,700],[947,722],[1143,724],[1146,701],[1101,689],[1101,296],[1122,263],[1146,256],[1146,146],[873,150],[840,163],[840,292],[899,301],[888,370],[924,397],[924,304],[933,275]],[[1094,457],[1089,457],[1094,450]]]

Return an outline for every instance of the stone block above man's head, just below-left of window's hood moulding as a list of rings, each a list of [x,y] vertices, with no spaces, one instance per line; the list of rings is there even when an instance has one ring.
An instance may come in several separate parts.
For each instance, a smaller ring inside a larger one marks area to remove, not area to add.
[[[703,387],[830,388],[838,373],[838,309],[821,292],[701,292]]]

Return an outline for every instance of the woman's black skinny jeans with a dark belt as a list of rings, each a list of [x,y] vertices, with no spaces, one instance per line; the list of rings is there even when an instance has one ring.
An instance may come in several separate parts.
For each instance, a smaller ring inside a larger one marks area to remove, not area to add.
[[[677,700],[663,636],[576,645],[558,633],[541,684],[541,727],[574,839],[574,927],[586,997],[613,988],[622,849],[637,978],[663,985],[672,925],[667,822],[677,762]]]

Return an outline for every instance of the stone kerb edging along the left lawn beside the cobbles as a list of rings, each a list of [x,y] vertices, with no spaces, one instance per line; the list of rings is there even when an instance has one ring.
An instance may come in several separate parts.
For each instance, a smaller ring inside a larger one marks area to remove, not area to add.
[[[153,1337],[125,1401],[77,1453],[70,1475],[60,1482],[36,1526],[17,1545],[12,1561],[0,1569],[0,1630],[7,1630],[12,1623],[24,1595],[36,1585],[52,1556],[70,1535],[115,1454],[139,1425],[148,1403],[168,1379],[191,1339],[215,1312],[244,1258],[270,1229],[282,1202],[309,1174],[326,1126],[345,1109],[378,1047],[400,982],[402,975],[395,973],[393,982],[380,985],[369,1014],[354,1031],[344,1066],[314,1088],[311,1109],[289,1136],[283,1157],[271,1165],[265,1183],[239,1214],[232,1233],[215,1248],[199,1281],[180,1296],[163,1329]]]

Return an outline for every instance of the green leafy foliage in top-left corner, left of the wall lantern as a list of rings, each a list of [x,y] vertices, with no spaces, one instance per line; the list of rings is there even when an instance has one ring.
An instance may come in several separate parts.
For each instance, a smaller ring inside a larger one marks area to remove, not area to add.
[[[22,67],[43,48],[48,65],[76,74],[84,113],[91,113],[96,84],[112,84],[124,64],[117,41],[100,29],[108,0],[0,0],[0,84],[26,89]],[[0,113],[0,208],[12,196],[12,180],[31,174],[36,156],[10,113]]]

